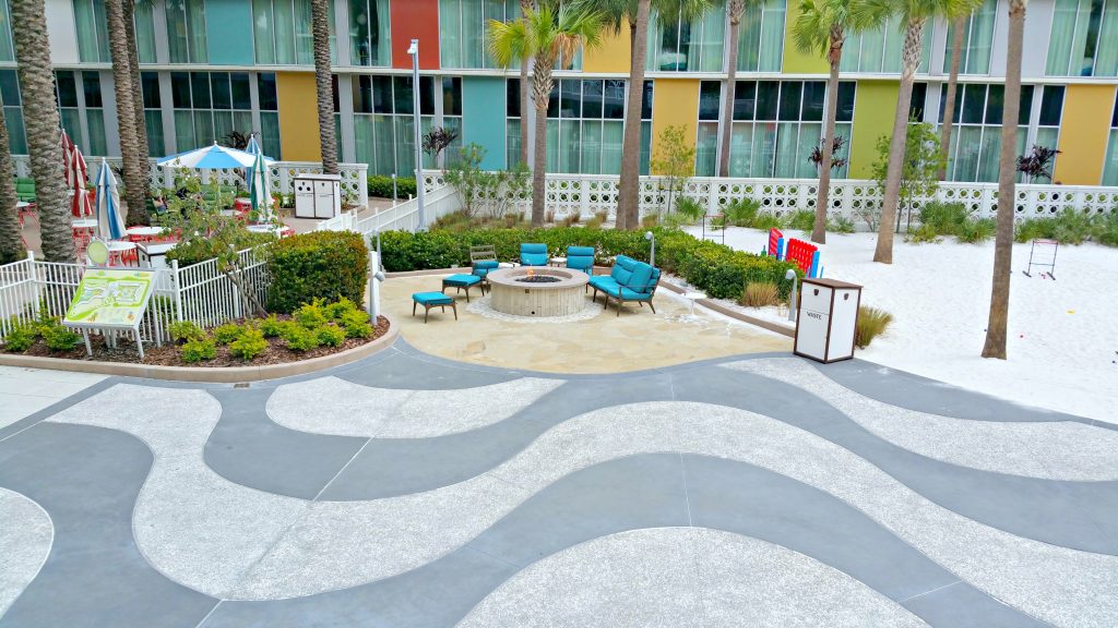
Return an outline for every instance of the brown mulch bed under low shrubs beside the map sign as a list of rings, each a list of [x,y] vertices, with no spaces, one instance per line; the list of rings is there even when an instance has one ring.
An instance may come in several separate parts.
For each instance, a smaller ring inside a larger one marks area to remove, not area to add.
[[[281,321],[291,316],[277,316]],[[234,321],[243,323],[244,321]],[[214,367],[262,367],[266,364],[283,364],[285,362],[300,362],[312,358],[321,358],[332,353],[340,353],[350,349],[370,343],[388,333],[388,318],[379,316],[377,324],[372,329],[372,336],[367,339],[345,339],[341,346],[319,346],[311,351],[292,351],[280,337],[265,339],[268,348],[263,353],[246,362],[240,358],[229,355],[228,346],[217,348],[217,358],[208,362],[197,362],[188,364],[179,358],[179,348],[173,343],[164,343],[163,346],[144,344],[144,359],[140,360],[135,342],[127,336],[120,336],[116,340],[116,349],[111,349],[105,344],[105,339],[100,335],[91,335],[89,344],[93,346],[93,355],[85,353],[85,343],[82,342],[73,351],[50,351],[42,340],[37,340],[27,352],[21,355],[36,355],[40,358],[65,358],[68,360],[97,361],[97,362],[130,362],[133,364],[153,364],[159,367],[197,367],[202,369]]]

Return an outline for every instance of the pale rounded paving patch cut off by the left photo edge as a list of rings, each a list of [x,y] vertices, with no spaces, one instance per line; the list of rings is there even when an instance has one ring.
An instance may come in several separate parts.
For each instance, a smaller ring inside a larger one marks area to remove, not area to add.
[[[55,526],[42,506],[0,488],[0,617],[39,574],[54,540]]]

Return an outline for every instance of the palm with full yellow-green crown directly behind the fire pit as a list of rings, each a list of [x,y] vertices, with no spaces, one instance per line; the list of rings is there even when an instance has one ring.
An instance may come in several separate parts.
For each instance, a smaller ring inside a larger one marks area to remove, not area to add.
[[[525,57],[532,63],[532,101],[536,104],[536,145],[532,164],[532,225],[543,226],[544,181],[547,174],[548,104],[555,85],[556,63],[567,66],[580,47],[595,47],[601,40],[601,13],[582,4],[542,3],[510,22],[491,20],[490,54],[498,65],[509,67]],[[524,120],[521,112],[521,120]]]

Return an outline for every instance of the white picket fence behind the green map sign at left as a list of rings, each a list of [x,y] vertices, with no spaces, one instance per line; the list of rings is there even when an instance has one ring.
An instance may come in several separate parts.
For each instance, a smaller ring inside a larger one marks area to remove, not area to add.
[[[267,297],[268,276],[259,249],[239,253],[241,283],[263,303]],[[40,308],[49,316],[63,316],[88,266],[40,261],[34,253],[26,259],[0,266],[0,339],[15,324],[35,320]],[[244,316],[243,299],[236,284],[221,272],[217,260],[179,267],[178,260],[159,273],[154,293],[140,334],[144,342],[160,344],[170,340],[168,325],[193,321],[214,327]]]

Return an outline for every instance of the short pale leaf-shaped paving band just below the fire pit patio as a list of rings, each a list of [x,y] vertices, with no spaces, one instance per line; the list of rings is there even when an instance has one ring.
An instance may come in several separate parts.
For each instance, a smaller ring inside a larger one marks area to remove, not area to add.
[[[312,434],[430,438],[503,421],[562,384],[521,378],[458,390],[409,390],[325,377],[276,388],[267,412],[284,427]]]

